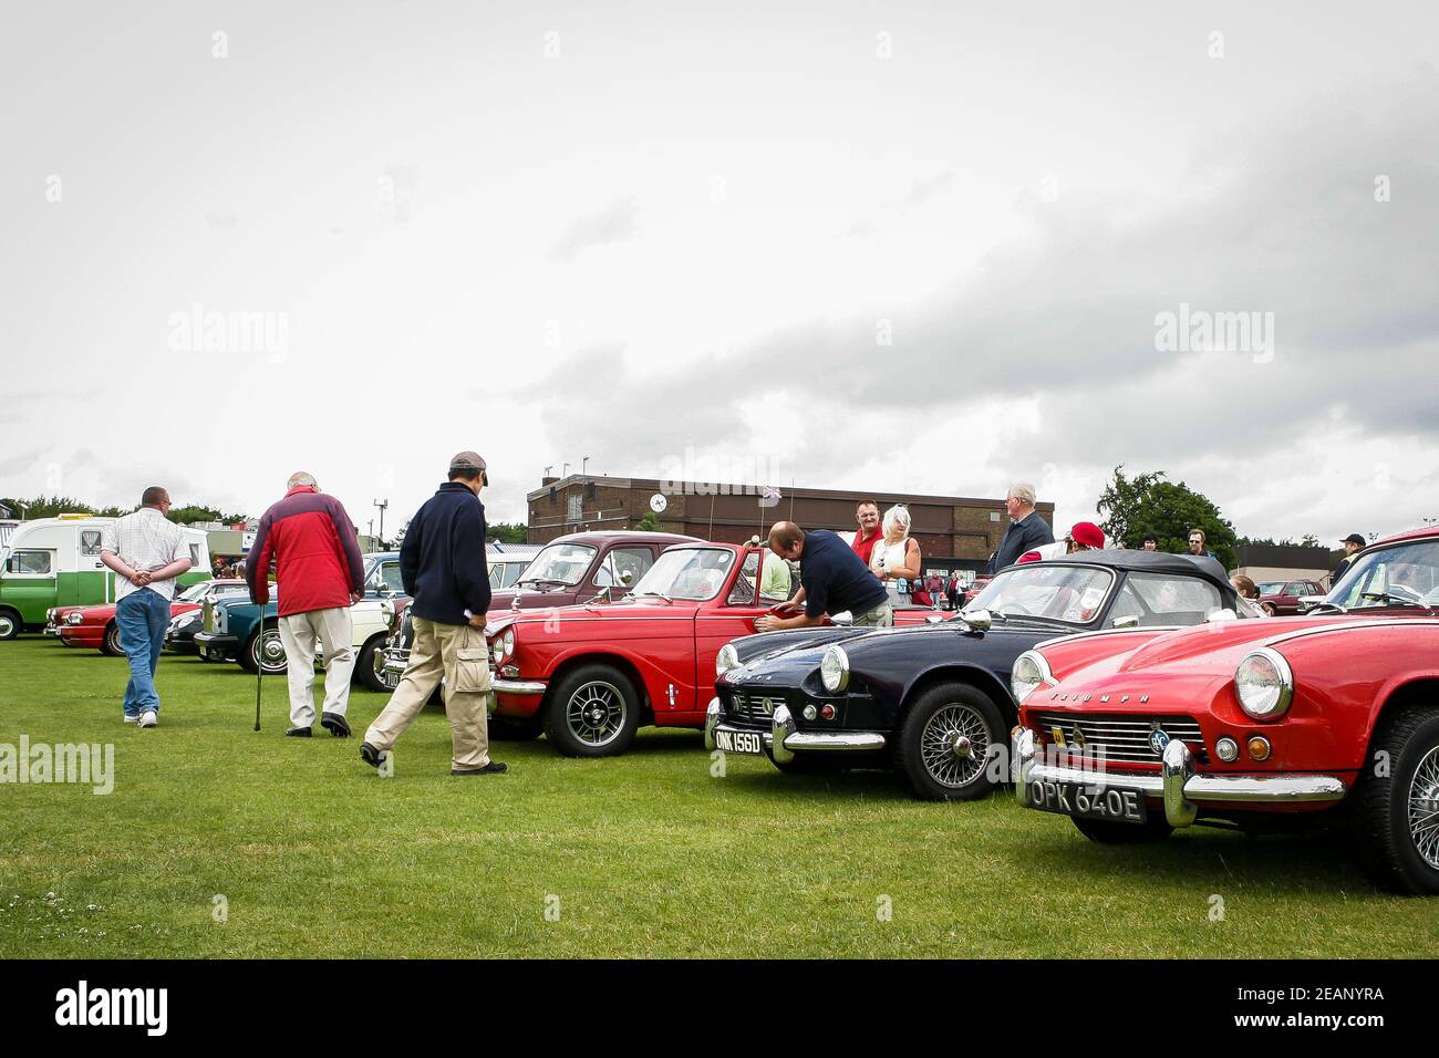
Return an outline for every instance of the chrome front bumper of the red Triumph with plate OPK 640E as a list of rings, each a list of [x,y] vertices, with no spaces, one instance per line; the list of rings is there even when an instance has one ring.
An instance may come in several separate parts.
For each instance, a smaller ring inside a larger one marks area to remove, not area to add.
[[[1030,806],[1029,790],[1042,783],[1118,786],[1164,800],[1170,826],[1189,826],[1200,805],[1298,805],[1343,800],[1348,789],[1327,774],[1223,776],[1194,774],[1194,754],[1177,738],[1164,747],[1158,774],[1127,774],[1065,767],[1039,759],[1039,740],[1029,728],[1016,728],[1010,770],[1019,803]]]

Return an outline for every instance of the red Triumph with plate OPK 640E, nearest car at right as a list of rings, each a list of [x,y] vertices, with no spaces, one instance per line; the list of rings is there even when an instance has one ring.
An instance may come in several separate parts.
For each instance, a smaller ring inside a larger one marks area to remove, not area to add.
[[[1302,618],[1042,643],[1012,674],[1019,797],[1102,842],[1344,823],[1377,882],[1439,894],[1436,616],[1430,528]]]

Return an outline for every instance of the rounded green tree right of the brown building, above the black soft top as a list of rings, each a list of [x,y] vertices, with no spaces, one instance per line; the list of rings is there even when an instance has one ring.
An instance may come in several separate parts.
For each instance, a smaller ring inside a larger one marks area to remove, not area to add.
[[[1104,530],[1124,547],[1140,547],[1145,533],[1160,538],[1161,551],[1189,550],[1189,531],[1204,530],[1207,547],[1225,569],[1235,566],[1235,527],[1209,497],[1183,481],[1164,481],[1163,471],[1124,476],[1114,468],[1114,481],[1099,495]]]

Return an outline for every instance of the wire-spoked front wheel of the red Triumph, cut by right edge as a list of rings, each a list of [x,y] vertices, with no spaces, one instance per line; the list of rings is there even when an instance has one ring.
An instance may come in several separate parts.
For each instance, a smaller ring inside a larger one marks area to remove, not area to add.
[[[1384,774],[1380,761],[1387,763]],[[1350,796],[1354,852],[1374,884],[1439,894],[1439,708],[1383,718]]]

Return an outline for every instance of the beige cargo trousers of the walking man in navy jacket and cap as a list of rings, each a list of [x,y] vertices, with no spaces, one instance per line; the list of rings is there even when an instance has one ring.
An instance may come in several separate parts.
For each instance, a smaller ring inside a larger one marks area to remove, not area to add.
[[[425,702],[430,700],[440,677],[445,678],[445,713],[450,721],[455,747],[453,767],[473,772],[489,763],[489,652],[485,633],[469,625],[442,625],[414,618],[414,645],[400,685],[390,704],[374,718],[364,740],[377,750],[394,746]]]

